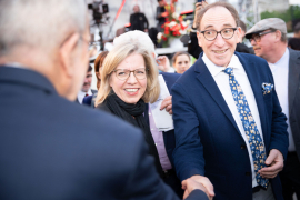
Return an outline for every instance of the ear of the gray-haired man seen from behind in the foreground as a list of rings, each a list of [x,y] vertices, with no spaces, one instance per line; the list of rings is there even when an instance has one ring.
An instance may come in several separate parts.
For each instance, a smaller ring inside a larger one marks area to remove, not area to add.
[[[77,42],[79,40],[79,33],[72,33],[60,47],[60,63],[69,77],[73,76],[74,69],[72,69],[73,57],[72,53],[76,49]]]

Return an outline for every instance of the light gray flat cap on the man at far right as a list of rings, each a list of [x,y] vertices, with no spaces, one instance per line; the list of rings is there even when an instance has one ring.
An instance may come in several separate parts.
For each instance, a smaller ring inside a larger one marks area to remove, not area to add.
[[[282,33],[288,33],[287,24],[282,19],[279,18],[268,18],[257,22],[249,31],[246,33],[246,38],[250,39],[252,34],[262,32],[268,29],[280,30]]]

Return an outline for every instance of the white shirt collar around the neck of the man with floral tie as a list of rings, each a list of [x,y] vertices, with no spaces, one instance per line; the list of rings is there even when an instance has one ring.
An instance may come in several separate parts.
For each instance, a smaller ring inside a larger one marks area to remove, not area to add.
[[[218,76],[220,72],[222,72],[226,69],[226,67],[216,66],[211,60],[209,60],[209,58],[207,57],[206,53],[203,53],[202,60],[206,63],[206,66],[208,67],[212,77]],[[232,54],[228,67],[231,67],[232,69],[242,68],[242,66],[239,61],[239,58],[236,54]]]

